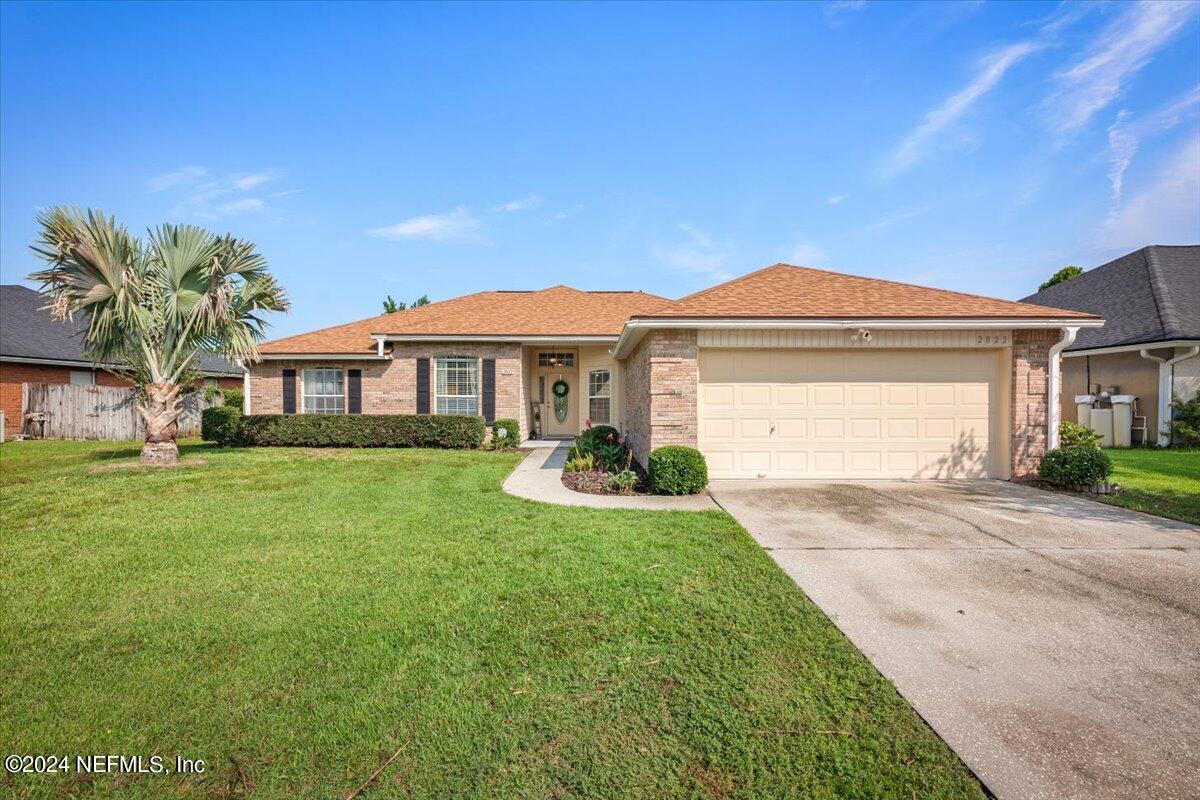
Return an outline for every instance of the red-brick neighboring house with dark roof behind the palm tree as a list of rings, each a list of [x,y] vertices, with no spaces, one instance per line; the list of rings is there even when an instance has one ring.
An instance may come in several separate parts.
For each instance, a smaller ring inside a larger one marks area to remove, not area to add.
[[[46,297],[23,285],[0,285],[0,410],[5,439],[20,433],[22,384],[128,386],[130,381],[83,354],[84,323],[59,323],[44,308]],[[224,359],[202,355],[208,385],[241,386],[241,369]]]

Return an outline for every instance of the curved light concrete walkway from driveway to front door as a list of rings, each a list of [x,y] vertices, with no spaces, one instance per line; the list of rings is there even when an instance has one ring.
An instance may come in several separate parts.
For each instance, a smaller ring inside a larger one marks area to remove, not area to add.
[[[536,444],[541,445],[542,443]],[[569,489],[563,486],[562,475],[563,464],[566,463],[566,453],[570,449],[570,441],[556,443],[553,447],[538,446],[505,479],[504,491],[527,500],[592,509],[641,509],[644,511],[716,511],[718,509],[713,498],[707,494],[682,498],[625,497],[620,494],[584,494]]]

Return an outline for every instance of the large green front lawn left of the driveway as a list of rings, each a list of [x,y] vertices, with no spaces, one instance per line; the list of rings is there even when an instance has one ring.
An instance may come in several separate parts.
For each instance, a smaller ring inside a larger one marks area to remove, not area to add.
[[[728,516],[518,456],[0,446],[0,750],[203,758],[5,796],[980,798]]]

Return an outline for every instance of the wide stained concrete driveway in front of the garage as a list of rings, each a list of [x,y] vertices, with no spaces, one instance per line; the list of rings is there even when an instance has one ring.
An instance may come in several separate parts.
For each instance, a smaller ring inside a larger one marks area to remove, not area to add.
[[[1000,798],[1200,798],[1200,528],[1000,481],[713,497]]]

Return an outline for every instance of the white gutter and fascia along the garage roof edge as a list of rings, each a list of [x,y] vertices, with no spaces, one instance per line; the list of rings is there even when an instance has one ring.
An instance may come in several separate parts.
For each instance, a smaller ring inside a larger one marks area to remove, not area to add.
[[[841,319],[712,319],[712,318],[655,318],[631,319],[625,323],[620,338],[613,348],[614,357],[624,359],[652,329],[695,329],[695,330],[845,330],[859,327],[899,329],[908,331],[953,331],[953,330],[1010,330],[1018,329],[1062,329],[1099,327],[1103,319],[1000,319],[984,318],[841,318]]]

